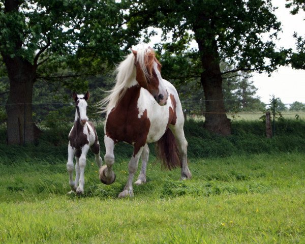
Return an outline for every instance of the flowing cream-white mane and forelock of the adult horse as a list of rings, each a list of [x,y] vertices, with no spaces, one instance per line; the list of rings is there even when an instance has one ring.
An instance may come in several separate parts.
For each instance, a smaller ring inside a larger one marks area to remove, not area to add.
[[[146,48],[137,50],[137,63],[140,65],[145,77],[151,75],[154,60],[157,59],[153,49]],[[114,87],[111,90],[108,90],[107,93],[109,93],[109,95],[98,103],[98,106],[101,108],[101,113],[107,112],[109,107],[115,107],[117,102],[125,95],[127,88],[136,78],[135,55],[133,53],[127,55],[126,59],[119,64],[115,72],[116,83]]]

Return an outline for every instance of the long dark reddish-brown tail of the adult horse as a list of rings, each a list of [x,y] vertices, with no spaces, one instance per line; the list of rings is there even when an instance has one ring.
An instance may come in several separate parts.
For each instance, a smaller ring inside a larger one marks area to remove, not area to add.
[[[179,150],[176,139],[170,129],[156,143],[156,154],[161,161],[161,167],[172,170],[181,167]]]

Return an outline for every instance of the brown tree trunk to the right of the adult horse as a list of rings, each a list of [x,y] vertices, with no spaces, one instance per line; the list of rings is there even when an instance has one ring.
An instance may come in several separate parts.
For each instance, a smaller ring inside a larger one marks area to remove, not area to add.
[[[206,100],[205,128],[221,135],[230,135],[231,123],[225,111],[220,60],[216,41],[212,41],[212,48],[209,50],[206,50],[204,47],[203,40],[197,38],[196,41],[198,43],[203,68],[201,84]]]

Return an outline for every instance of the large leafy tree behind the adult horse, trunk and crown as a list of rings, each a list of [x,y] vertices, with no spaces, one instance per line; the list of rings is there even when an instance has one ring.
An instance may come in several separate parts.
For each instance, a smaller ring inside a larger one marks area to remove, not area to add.
[[[163,48],[173,53],[188,49],[190,40],[197,42],[206,99],[205,128],[228,135],[231,125],[225,113],[222,75],[272,72],[285,64],[288,51],[276,51],[273,43],[281,30],[273,11],[270,0],[139,0],[130,2],[126,18],[134,30],[160,27],[163,39],[171,38]],[[264,41],[262,35],[266,33],[269,39]],[[222,60],[234,68],[221,72]]]

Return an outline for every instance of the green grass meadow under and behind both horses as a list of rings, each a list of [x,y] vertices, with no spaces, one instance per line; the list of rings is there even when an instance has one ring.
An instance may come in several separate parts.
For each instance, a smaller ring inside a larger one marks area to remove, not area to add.
[[[235,121],[229,137],[202,125],[186,123],[191,180],[162,171],[150,145],[147,184],[126,199],[129,145],[115,148],[114,184],[89,154],[85,194],[66,195],[69,129],[21,147],[0,130],[0,242],[305,243],[305,122],[279,121],[271,140],[260,121]]]

